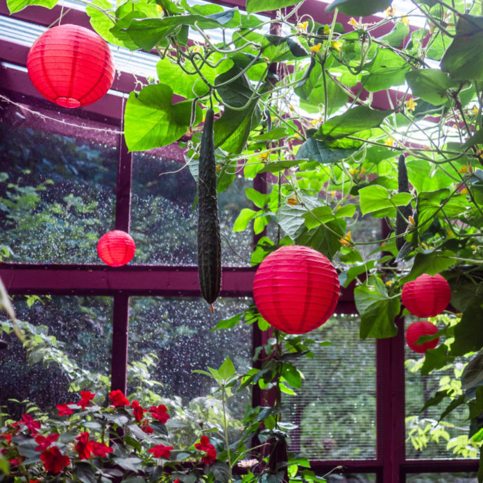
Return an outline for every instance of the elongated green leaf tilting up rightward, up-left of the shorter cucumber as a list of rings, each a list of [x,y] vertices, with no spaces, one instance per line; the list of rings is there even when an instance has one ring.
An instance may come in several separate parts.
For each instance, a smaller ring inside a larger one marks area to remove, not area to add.
[[[316,139],[341,139],[359,131],[376,128],[393,110],[375,110],[358,105],[341,114],[332,117],[314,134]]]

